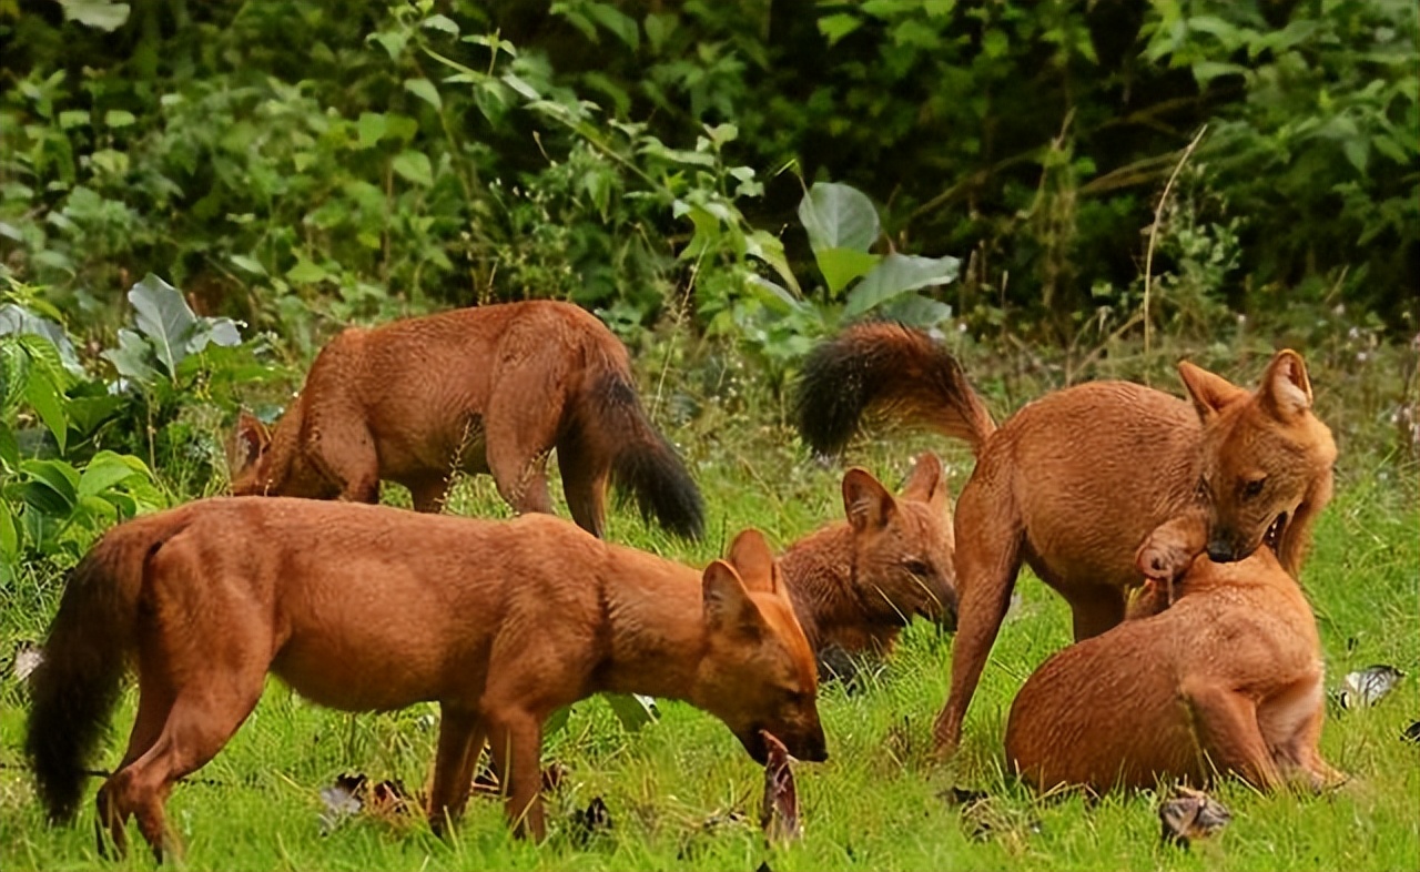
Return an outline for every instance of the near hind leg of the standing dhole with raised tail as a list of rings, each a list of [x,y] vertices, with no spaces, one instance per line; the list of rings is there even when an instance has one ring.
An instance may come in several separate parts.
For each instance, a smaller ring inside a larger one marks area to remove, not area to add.
[[[957,636],[951,643],[951,687],[934,730],[939,753],[950,754],[961,741],[967,706],[1011,605],[1022,537],[1008,489],[974,476],[957,501]]]

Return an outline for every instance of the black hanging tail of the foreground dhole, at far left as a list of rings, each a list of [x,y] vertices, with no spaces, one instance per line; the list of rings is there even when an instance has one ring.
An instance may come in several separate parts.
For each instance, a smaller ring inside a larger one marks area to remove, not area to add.
[[[74,568],[30,676],[24,750],[50,819],[68,822],[84,797],[87,765],[108,726],[133,649],[143,562],[156,544],[121,527]]]

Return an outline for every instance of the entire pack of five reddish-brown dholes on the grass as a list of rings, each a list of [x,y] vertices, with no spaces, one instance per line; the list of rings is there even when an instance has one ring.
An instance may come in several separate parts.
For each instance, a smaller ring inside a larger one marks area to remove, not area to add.
[[[934,730],[950,756],[1022,561],[1066,599],[1076,642],[1011,707],[1021,778],[1322,790],[1343,777],[1318,753],[1322,656],[1296,577],[1336,447],[1292,351],[1255,391],[1179,374],[1187,400],[1091,382],[997,425],[926,334],[851,327],[802,366],[804,440],[839,452],[869,415],[966,440],[976,467],[956,511],[930,453],[899,494],[849,469],[845,520],[778,557],[746,530],[697,569],[604,540],[609,484],[686,537],[704,504],[595,317],[531,301],[348,329],[271,432],[241,416],[236,496],[119,524],[71,574],[31,677],[38,795],[51,819],[75,817],[136,672],[99,845],[124,851],[136,817],[160,859],[173,784],[274,673],[349,712],[439,703],[430,827],[457,819],[487,747],[515,831],[542,838],[554,710],[601,692],[682,699],[760,763],[774,739],[821,761],[816,663],[886,656],[914,616],[956,629]],[[575,524],[551,514],[554,452]],[[456,469],[490,473],[518,517],[439,514]],[[381,481],[408,486],[417,511],[378,506]]]

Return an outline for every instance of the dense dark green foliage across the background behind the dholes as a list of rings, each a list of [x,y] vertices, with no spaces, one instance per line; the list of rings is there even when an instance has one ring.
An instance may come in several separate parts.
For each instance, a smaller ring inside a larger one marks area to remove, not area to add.
[[[1406,0],[0,7],[0,244],[95,321],[156,271],[302,344],[430,298],[572,297],[628,327],[689,298],[753,328],[746,257],[839,300],[795,220],[797,178],[838,180],[879,203],[876,250],[961,258],[936,293],[958,315],[1069,339],[1135,314],[1142,233],[1206,125],[1150,318],[1312,301],[1413,329],[1417,21]]]

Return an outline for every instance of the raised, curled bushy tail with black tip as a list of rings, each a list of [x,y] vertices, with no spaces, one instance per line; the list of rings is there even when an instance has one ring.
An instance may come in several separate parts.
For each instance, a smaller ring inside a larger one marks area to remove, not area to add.
[[[836,454],[869,412],[964,439],[980,453],[995,430],[961,364],[926,334],[892,322],[849,327],[809,354],[798,382],[799,435]]]

